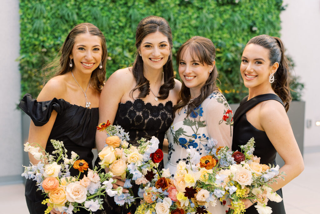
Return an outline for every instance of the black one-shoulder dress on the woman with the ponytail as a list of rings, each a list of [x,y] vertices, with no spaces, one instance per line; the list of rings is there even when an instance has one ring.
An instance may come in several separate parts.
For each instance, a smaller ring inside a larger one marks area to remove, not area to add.
[[[240,146],[245,145],[250,138],[254,137],[255,147],[253,155],[260,157],[261,164],[274,164],[276,165],[276,149],[270,142],[267,134],[264,131],[256,129],[252,124],[247,120],[246,112],[255,107],[260,102],[266,100],[276,100],[279,101],[282,105],[282,100],[275,94],[261,94],[250,100],[247,100],[246,96],[240,103],[240,106],[234,114],[234,125],[233,125],[233,139],[232,139],[232,151],[239,150],[241,151]],[[279,189],[276,191],[282,197],[282,190]],[[272,212],[276,214],[285,214],[283,200],[279,203],[274,201],[268,201],[268,207],[272,208]],[[245,210],[246,214],[257,214],[258,211],[252,205]]]

